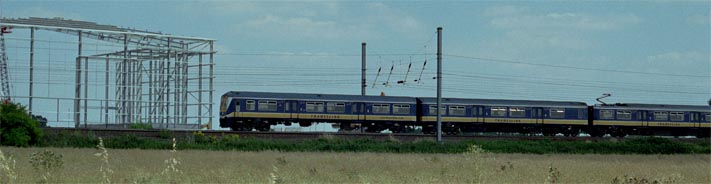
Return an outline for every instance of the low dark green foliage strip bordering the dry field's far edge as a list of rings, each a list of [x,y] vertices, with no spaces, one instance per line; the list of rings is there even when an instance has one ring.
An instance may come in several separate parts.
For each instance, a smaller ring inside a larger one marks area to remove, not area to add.
[[[180,138],[179,138],[180,139]],[[678,142],[665,138],[630,138],[624,141],[511,141],[483,140],[438,144],[434,141],[376,141],[370,139],[344,140],[321,138],[306,141],[283,141],[269,139],[240,138],[238,135],[208,136],[194,132],[183,137],[177,145],[179,149],[199,150],[241,150],[241,151],[296,151],[296,152],[389,152],[389,153],[467,153],[476,150],[489,153],[534,153],[534,154],[694,154],[711,153],[711,145]],[[119,149],[171,149],[169,139],[140,138],[123,135],[104,139],[107,148]],[[51,147],[94,147],[98,142],[91,135],[78,132],[63,132],[48,135],[41,146]],[[481,150],[479,150],[481,149]]]

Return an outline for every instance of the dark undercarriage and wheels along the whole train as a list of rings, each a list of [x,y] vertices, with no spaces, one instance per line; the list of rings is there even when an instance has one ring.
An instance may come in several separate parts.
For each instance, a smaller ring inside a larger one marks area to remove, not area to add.
[[[300,127],[309,127],[317,122],[315,120],[284,120],[261,118],[225,118],[220,120],[222,127],[230,127],[233,131],[271,131],[272,125],[283,124]],[[401,123],[377,121],[338,121],[318,122],[330,123],[338,131],[379,133],[423,133],[435,134],[436,123]],[[492,123],[442,123],[442,134],[457,135],[462,133],[513,133],[521,135],[542,135],[576,137],[587,134],[591,137],[625,137],[627,135],[641,136],[696,136],[709,137],[709,128],[674,128],[674,127],[633,127],[633,126],[589,126],[589,125],[550,125],[550,124],[492,124]]]

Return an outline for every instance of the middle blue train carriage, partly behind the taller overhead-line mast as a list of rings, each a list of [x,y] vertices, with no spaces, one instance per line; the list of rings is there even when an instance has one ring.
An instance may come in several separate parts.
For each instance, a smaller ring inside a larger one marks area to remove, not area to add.
[[[437,98],[418,99],[421,108],[427,109],[421,124],[423,127],[434,125]],[[572,136],[588,125],[587,105],[582,102],[443,98],[442,108],[443,129],[452,133],[458,130],[520,133],[540,130],[546,135]]]

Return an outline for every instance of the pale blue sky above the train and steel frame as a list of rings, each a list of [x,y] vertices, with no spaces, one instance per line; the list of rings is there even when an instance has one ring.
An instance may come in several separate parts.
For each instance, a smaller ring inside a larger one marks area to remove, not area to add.
[[[2,0],[0,9],[214,38],[215,102],[227,91],[360,94],[362,42],[368,95],[435,96],[437,27],[444,97],[711,98],[710,1]]]

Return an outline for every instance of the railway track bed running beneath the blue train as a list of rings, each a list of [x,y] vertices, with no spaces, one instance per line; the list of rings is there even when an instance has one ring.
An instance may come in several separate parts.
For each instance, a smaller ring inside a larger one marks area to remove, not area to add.
[[[272,139],[284,141],[305,141],[319,138],[338,139],[371,139],[379,141],[435,141],[435,135],[426,134],[389,134],[389,133],[357,133],[357,132],[254,132],[254,131],[223,131],[223,130],[136,130],[136,129],[84,129],[84,128],[43,128],[45,134],[79,133],[95,135],[97,137],[116,137],[133,135],[144,138],[165,138],[166,134],[177,139],[193,136],[197,131],[208,136],[239,135],[240,138]],[[673,138],[681,142],[709,142],[709,139],[698,138]],[[459,142],[469,140],[550,140],[550,141],[624,141],[625,138],[614,137],[563,137],[563,136],[525,136],[525,135],[443,135],[444,142]]]

